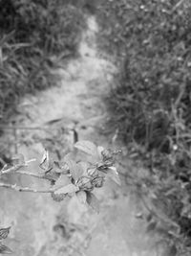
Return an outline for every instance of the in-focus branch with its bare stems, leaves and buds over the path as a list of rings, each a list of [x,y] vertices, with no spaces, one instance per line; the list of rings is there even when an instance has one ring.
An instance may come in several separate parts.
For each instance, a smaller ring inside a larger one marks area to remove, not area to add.
[[[68,153],[62,161],[54,161],[48,151],[45,151],[39,165],[42,170],[39,174],[23,172],[31,161],[26,161],[22,154],[12,158],[11,166],[4,166],[1,178],[7,174],[31,175],[36,178],[47,179],[51,182],[48,190],[36,190],[30,187],[20,187],[17,184],[0,183],[0,187],[11,188],[20,192],[51,193],[53,200],[61,201],[74,195],[82,203],[87,203],[98,212],[99,205],[93,191],[104,185],[106,177],[112,178],[118,185],[116,155],[120,151],[112,151],[103,147],[96,147],[90,141],[79,141],[75,149],[84,153],[77,159],[77,154]]]

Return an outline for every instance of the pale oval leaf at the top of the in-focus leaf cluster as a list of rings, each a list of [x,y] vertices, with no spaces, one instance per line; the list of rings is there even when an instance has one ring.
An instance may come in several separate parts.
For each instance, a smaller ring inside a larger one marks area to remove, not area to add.
[[[75,143],[74,147],[79,151],[86,152],[92,156],[97,156],[97,148],[96,145],[91,141],[78,141]]]

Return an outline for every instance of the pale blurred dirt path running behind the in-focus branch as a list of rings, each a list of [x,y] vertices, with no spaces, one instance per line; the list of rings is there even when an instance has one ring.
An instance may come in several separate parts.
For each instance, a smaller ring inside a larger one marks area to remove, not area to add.
[[[18,146],[26,158],[39,162],[43,146],[62,157],[73,148],[74,134],[102,146],[109,139],[99,132],[107,118],[102,96],[115,67],[97,54],[96,19],[87,19],[88,29],[79,45],[79,58],[57,71],[59,86],[26,98],[19,125],[42,128],[20,131]],[[74,130],[76,133],[74,133]],[[28,145],[26,145],[28,142]],[[32,170],[37,169],[33,163]],[[16,179],[18,180],[18,179]],[[12,180],[13,182],[14,180]],[[19,180],[23,185],[46,187],[45,181]],[[0,220],[12,226],[8,241],[17,256],[155,256],[153,239],[145,235],[145,223],[136,218],[134,200],[112,182],[96,192],[100,214],[82,206],[75,198],[60,203],[49,195],[15,194],[1,191]],[[7,198],[5,199],[2,198]]]

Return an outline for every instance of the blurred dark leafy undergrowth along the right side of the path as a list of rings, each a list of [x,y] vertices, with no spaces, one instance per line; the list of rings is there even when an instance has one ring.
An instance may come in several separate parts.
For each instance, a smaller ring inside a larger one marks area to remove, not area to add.
[[[170,255],[191,249],[190,13],[187,0],[108,0],[99,12],[102,45],[119,67],[112,115],[130,156],[149,170],[140,184],[152,207],[173,223],[163,232]]]

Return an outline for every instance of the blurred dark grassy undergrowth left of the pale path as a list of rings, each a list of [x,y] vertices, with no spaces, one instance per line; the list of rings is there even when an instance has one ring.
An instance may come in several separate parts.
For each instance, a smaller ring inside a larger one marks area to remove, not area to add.
[[[67,2],[67,1],[65,1]],[[60,0],[0,1],[0,117],[25,93],[53,85],[53,67],[74,55],[85,19]]]

